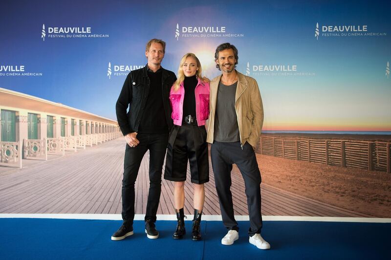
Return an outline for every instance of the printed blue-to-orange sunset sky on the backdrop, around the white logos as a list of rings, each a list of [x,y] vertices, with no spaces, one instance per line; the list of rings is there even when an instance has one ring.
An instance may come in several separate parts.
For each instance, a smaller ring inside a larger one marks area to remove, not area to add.
[[[238,70],[252,65],[297,65],[315,76],[257,79],[268,129],[391,130],[390,1],[8,1],[0,10],[0,65],[25,65],[42,77],[0,76],[0,87],[115,119],[126,76],[107,77],[112,65],[144,65],[145,43],[167,42],[163,66],[176,72],[186,52],[202,57],[213,78],[214,49],[239,49]],[[315,25],[368,25],[378,37],[314,38]],[[46,27],[92,27],[96,39],[41,39]],[[225,26],[241,38],[174,38],[175,26]],[[210,59],[208,59],[210,55]],[[348,122],[347,122],[348,121]],[[368,123],[373,121],[372,123]],[[296,122],[296,126],[295,126]],[[386,122],[386,123],[385,123]],[[296,129],[295,129],[296,128]]]

